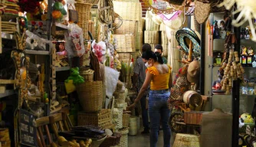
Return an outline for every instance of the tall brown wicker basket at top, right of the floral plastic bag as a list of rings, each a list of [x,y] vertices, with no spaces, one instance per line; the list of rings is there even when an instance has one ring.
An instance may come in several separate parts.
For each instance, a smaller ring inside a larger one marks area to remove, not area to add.
[[[88,39],[88,24],[89,20],[91,19],[90,8],[92,4],[90,3],[75,3],[76,10],[78,12],[78,25],[80,28],[83,28],[84,38]]]

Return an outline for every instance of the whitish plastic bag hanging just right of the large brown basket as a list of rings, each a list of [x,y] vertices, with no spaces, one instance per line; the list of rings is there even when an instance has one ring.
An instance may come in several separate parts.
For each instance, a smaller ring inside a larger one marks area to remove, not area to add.
[[[105,67],[106,95],[109,98],[112,98],[113,92],[116,90],[119,75],[120,73],[117,70]]]

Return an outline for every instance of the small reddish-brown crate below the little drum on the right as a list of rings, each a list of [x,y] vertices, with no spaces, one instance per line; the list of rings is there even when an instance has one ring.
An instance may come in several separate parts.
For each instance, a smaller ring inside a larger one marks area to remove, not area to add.
[[[192,111],[184,113],[184,123],[191,125],[200,125],[202,122],[202,111]]]

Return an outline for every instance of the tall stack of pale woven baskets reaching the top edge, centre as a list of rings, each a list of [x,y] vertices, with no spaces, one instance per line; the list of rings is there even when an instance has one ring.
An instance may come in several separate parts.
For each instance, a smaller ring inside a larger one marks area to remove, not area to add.
[[[139,0],[113,1],[114,11],[123,19],[123,24],[113,33],[117,34],[117,52],[121,54],[120,61],[124,63],[130,60],[131,54],[136,50],[140,50],[143,44],[143,27],[142,25],[142,6]],[[117,21],[117,20],[116,20]],[[125,44],[125,45],[123,45]]]

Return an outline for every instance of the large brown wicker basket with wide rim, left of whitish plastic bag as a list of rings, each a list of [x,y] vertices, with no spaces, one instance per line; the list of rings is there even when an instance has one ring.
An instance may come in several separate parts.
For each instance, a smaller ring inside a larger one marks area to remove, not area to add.
[[[80,104],[87,113],[100,111],[103,100],[102,81],[87,81],[78,85],[77,93]]]

